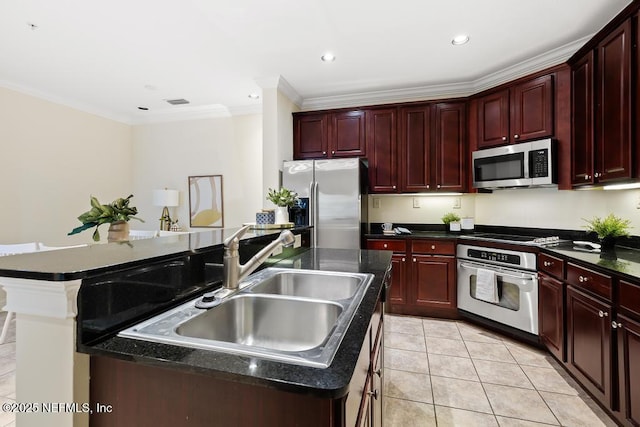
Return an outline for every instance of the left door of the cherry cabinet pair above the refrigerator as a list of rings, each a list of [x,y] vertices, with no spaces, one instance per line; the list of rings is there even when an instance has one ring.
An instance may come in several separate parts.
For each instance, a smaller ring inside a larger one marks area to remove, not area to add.
[[[294,116],[293,158],[300,160],[327,157],[328,131],[327,114]]]

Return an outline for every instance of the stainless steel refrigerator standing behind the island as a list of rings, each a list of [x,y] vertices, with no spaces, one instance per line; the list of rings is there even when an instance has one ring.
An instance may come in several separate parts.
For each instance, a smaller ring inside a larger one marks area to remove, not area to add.
[[[282,186],[300,198],[295,222],[313,226],[312,247],[360,248],[366,182],[366,164],[358,158],[285,161],[282,168]]]

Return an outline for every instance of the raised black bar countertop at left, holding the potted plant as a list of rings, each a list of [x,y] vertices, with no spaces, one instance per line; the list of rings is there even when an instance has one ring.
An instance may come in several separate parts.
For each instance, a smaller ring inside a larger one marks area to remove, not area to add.
[[[307,228],[296,228],[293,231],[295,233]],[[220,246],[237,230],[228,228],[197,231],[123,243],[91,244],[65,250],[4,256],[0,257],[0,277],[53,281],[84,279],[90,275],[111,272],[116,267],[133,267],[150,260],[160,261]],[[278,234],[280,231],[249,230],[241,240]]]

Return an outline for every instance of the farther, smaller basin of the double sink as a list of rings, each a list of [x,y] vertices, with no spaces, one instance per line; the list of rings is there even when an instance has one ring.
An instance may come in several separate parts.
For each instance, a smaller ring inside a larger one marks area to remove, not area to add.
[[[331,273],[312,270],[270,268],[261,273],[266,277],[251,286],[251,292],[290,295],[296,297],[338,301],[349,299],[365,282],[366,276],[349,273]]]

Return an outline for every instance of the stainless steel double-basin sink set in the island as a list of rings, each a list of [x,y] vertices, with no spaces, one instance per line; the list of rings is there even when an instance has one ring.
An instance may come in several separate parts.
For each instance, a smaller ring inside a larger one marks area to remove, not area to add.
[[[194,299],[120,332],[127,338],[326,368],[372,274],[267,268],[213,308]]]

